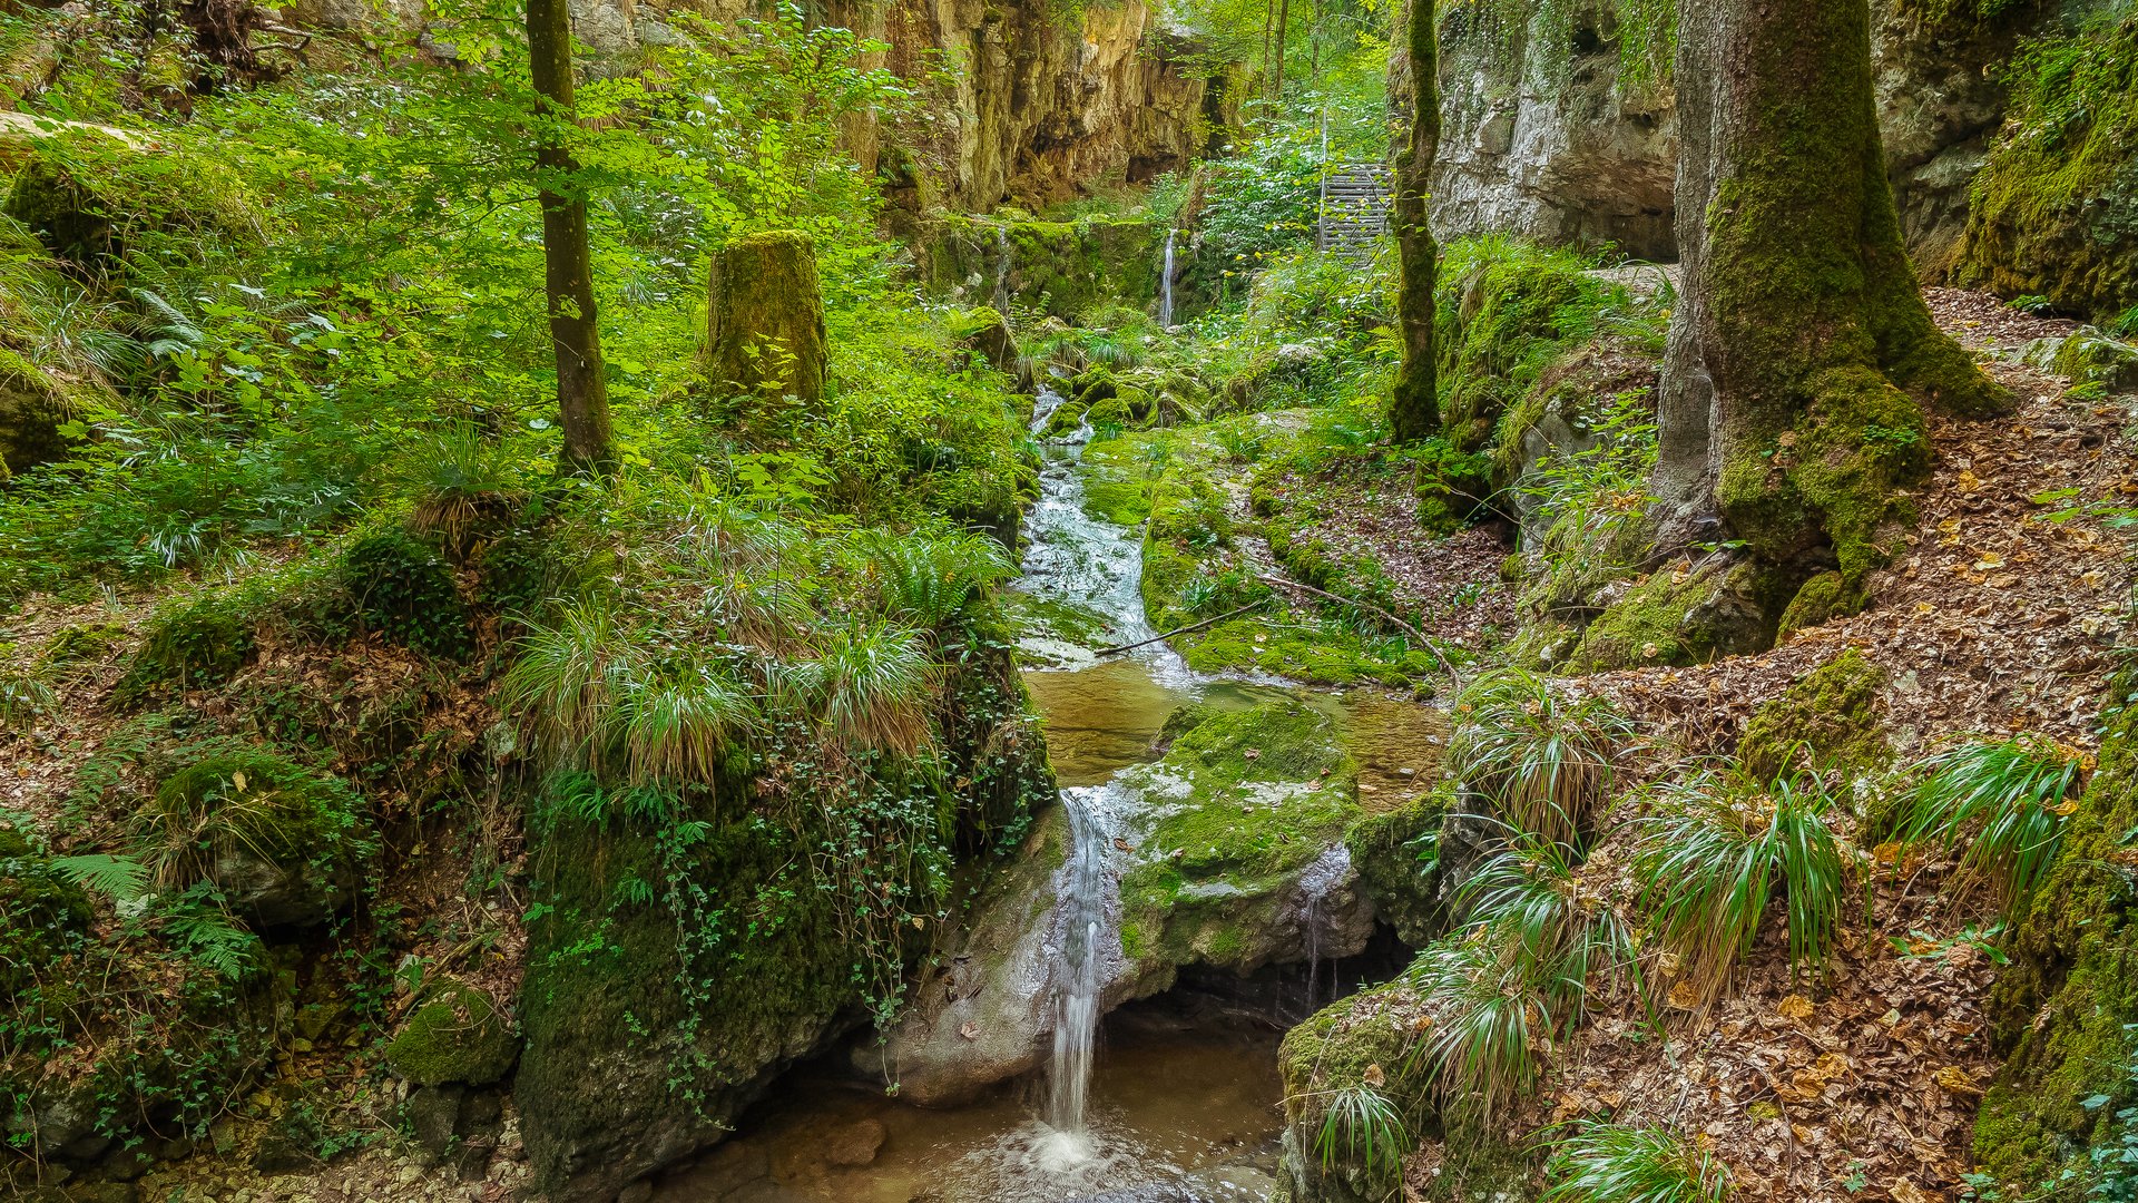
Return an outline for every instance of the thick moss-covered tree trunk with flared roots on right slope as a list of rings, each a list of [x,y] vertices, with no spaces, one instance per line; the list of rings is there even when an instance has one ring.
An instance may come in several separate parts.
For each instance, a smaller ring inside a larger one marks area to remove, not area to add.
[[[1666,544],[1745,539],[1787,597],[1886,561],[1928,471],[1924,405],[2005,394],[1901,248],[1864,0],[1680,0],[1683,295],[1661,381]]]

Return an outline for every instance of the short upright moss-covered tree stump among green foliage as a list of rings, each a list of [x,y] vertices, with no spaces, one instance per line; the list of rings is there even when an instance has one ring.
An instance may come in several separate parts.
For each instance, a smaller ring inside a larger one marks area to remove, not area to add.
[[[823,398],[823,289],[817,246],[806,233],[750,233],[716,250],[706,310],[706,355],[716,387],[768,400]]]

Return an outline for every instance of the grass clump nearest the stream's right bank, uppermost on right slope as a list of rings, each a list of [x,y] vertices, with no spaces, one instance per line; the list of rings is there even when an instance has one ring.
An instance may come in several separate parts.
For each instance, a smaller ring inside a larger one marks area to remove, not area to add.
[[[1580,846],[1616,779],[1612,756],[1633,724],[1610,702],[1561,700],[1535,674],[1501,670],[1456,698],[1454,773],[1501,818],[1552,843]]]

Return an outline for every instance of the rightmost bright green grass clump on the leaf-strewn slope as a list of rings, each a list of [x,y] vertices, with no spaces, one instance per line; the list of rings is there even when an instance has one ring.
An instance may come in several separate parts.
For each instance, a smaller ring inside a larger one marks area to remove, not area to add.
[[[2020,908],[2048,875],[2078,809],[2085,753],[2042,736],[1963,743],[1918,764],[1922,781],[1903,803],[1903,848],[1967,846],[1958,890],[1988,886]]]

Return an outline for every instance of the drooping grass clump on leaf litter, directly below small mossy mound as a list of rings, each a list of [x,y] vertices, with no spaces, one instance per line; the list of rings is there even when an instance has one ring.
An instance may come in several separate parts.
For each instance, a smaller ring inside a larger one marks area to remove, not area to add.
[[[1777,886],[1787,903],[1790,970],[1826,963],[1847,888],[1830,809],[1832,796],[1811,773],[1764,786],[1698,773],[1663,790],[1659,813],[1644,820],[1633,875],[1698,1010],[1751,950]]]

